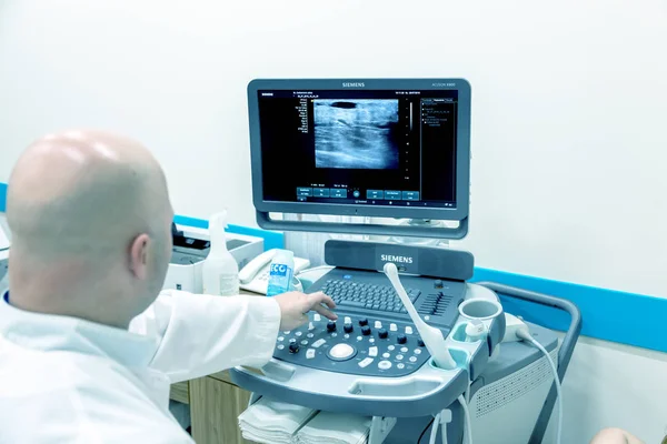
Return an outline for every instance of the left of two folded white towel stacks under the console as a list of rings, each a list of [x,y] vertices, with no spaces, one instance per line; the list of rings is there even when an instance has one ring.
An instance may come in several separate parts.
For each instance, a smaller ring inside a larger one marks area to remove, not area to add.
[[[317,411],[261,397],[239,415],[246,440],[267,444],[291,444],[293,435]]]

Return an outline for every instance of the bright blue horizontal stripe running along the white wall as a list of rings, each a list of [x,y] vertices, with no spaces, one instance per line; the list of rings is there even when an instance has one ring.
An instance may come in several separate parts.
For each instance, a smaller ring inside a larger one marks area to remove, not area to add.
[[[6,192],[7,185],[0,183],[0,211],[6,208]],[[175,221],[182,225],[208,228],[208,221],[201,219],[177,215]],[[278,232],[240,225],[229,225],[228,231],[263,238],[266,250],[285,244],[282,233]],[[581,311],[581,334],[586,336],[667,352],[663,332],[667,322],[667,299],[477,268],[472,282],[480,281],[494,281],[574,302]],[[567,314],[558,310],[502,295],[501,300],[507,312],[527,321],[560,331],[569,325]]]

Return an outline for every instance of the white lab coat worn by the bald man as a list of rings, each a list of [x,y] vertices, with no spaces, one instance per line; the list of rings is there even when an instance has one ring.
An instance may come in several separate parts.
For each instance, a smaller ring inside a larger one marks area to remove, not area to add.
[[[0,443],[192,443],[169,386],[272,354],[269,297],[168,291],[130,331],[0,301]]]

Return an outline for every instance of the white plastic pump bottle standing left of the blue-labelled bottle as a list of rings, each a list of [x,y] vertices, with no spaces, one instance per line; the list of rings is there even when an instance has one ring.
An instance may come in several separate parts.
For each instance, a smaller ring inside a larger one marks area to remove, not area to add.
[[[226,223],[227,211],[216,213],[209,220],[211,248],[201,269],[205,294],[216,296],[239,294],[239,265],[227,250]]]

